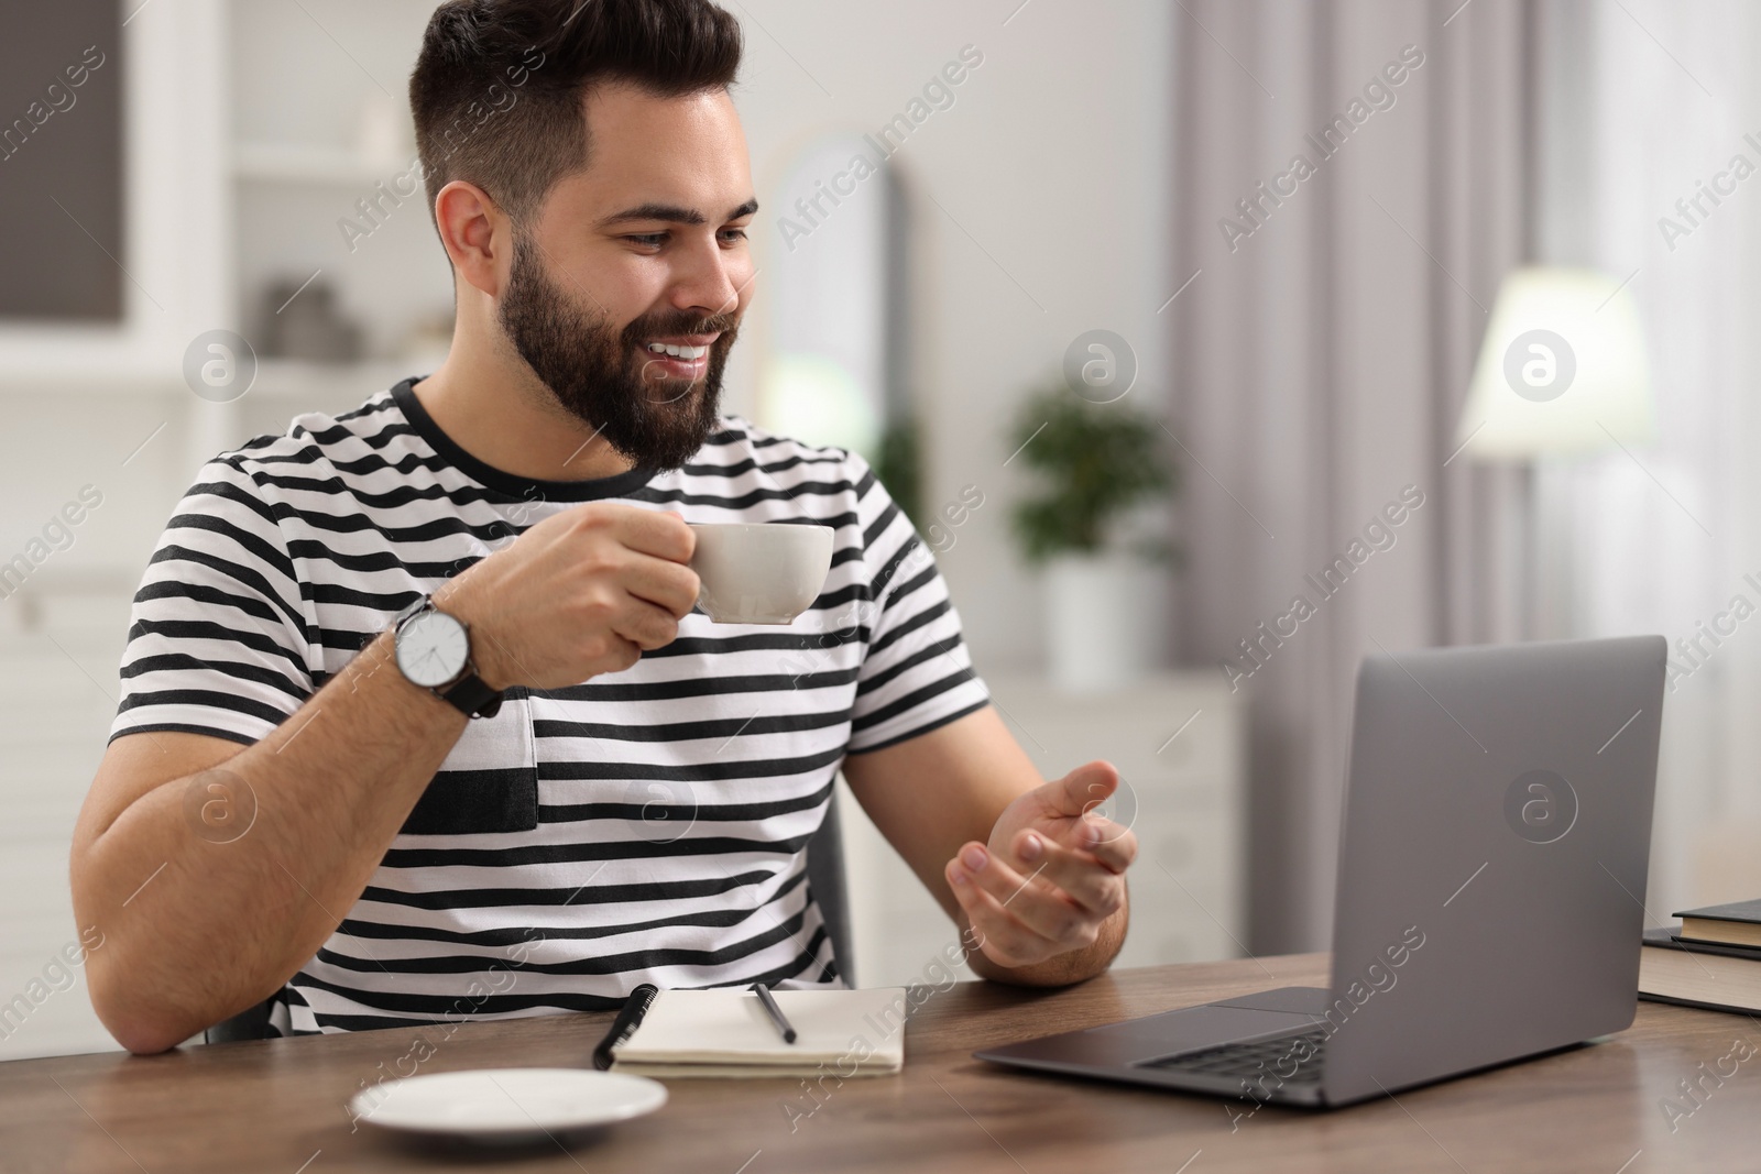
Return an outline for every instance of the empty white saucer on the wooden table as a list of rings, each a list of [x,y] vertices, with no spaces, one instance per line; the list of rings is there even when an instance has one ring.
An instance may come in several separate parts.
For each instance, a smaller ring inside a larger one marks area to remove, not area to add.
[[[666,1086],[585,1068],[483,1068],[386,1081],[357,1093],[354,1116],[387,1130],[525,1141],[629,1121],[666,1104]]]

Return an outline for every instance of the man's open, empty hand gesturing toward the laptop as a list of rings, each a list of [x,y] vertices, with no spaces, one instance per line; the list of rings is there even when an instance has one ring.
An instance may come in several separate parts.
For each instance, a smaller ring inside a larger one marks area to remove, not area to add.
[[[1097,815],[1118,771],[1090,762],[1007,808],[990,845],[967,841],[944,873],[979,949],[998,966],[1032,966],[1095,943],[1125,905],[1138,855],[1129,827]]]

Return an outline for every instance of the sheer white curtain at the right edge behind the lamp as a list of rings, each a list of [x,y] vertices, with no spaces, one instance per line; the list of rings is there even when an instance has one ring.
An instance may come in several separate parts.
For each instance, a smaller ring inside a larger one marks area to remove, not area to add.
[[[1581,7],[1548,86],[1541,248],[1629,280],[1659,442],[1543,470],[1543,597],[1558,635],[1669,639],[1647,899],[1659,924],[1761,896],[1761,12]]]

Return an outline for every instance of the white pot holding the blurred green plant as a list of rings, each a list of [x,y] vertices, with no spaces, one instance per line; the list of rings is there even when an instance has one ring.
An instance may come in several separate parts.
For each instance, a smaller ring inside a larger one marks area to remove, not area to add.
[[[1046,651],[1051,683],[1092,693],[1160,667],[1168,572],[1131,554],[1060,554],[1046,563]]]

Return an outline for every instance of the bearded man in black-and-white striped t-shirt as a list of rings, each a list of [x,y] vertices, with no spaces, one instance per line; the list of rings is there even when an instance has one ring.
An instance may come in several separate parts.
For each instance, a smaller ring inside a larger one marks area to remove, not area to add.
[[[1041,783],[859,458],[718,415],[755,276],[738,62],[708,0],[435,12],[446,363],[211,461],[136,597],[72,857],[125,1047],[269,998],[305,1033],[835,984],[803,845],[840,767],[979,973],[1118,950],[1115,771]],[[831,526],[819,600],[711,625],[687,521]]]

